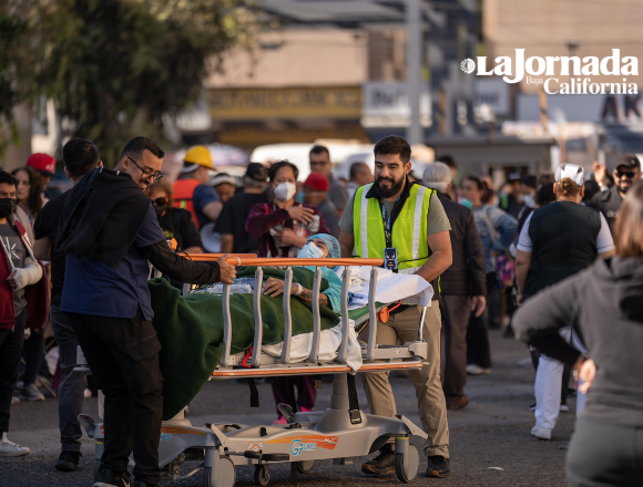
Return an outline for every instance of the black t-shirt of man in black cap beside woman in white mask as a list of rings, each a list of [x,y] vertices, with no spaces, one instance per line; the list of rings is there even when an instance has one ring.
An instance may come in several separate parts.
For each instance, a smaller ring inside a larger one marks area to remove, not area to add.
[[[221,235],[233,236],[233,253],[257,253],[259,246],[246,231],[246,220],[253,206],[259,203],[268,203],[265,191],[242,193],[225,201],[216,221],[216,229]]]

